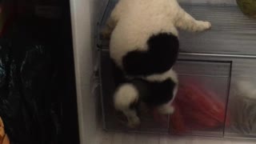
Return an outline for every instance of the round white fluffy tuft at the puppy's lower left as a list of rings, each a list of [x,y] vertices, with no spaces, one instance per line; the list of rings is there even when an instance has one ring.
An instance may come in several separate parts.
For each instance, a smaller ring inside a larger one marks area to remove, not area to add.
[[[116,110],[126,111],[137,105],[139,94],[132,83],[123,83],[114,93],[114,107]]]

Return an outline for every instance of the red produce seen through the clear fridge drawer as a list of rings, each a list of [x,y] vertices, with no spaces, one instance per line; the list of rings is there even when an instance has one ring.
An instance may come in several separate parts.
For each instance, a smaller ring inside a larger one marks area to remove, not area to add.
[[[228,126],[230,118],[226,114],[226,99],[221,101],[218,98],[221,97],[206,90],[196,80],[181,82],[173,102],[175,111],[170,115],[170,131],[181,134],[194,130],[216,130],[225,125],[225,119]],[[156,119],[159,121],[159,118]]]

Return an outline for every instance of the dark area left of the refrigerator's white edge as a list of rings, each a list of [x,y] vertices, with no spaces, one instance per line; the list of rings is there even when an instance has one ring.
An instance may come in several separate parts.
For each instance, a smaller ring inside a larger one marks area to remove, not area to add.
[[[79,143],[69,0],[0,3],[0,116],[10,142]]]

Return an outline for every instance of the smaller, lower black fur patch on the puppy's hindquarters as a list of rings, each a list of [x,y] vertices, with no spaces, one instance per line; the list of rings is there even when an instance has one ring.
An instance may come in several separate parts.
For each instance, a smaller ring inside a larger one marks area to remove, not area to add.
[[[146,102],[148,106],[160,106],[170,102],[174,97],[175,82],[166,79],[163,82],[147,82],[142,79],[134,79],[131,81],[137,88],[139,100]]]

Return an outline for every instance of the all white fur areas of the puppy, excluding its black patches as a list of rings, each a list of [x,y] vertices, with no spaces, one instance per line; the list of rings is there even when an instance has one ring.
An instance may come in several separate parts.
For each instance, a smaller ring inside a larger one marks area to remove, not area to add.
[[[147,40],[153,34],[171,33],[178,37],[178,28],[192,32],[210,29],[210,22],[197,21],[178,5],[176,0],[119,0],[102,31],[105,38],[110,37],[110,57],[122,68],[122,58],[132,50],[147,50]],[[148,81],[162,82],[167,78],[178,83],[173,70],[163,74],[146,77]],[[175,88],[174,94],[177,93]],[[136,111],[129,109],[130,102],[138,98],[133,86],[121,86],[115,94],[114,103],[117,110],[126,114],[129,125],[138,125]],[[162,114],[174,111],[170,102],[159,106]]]

